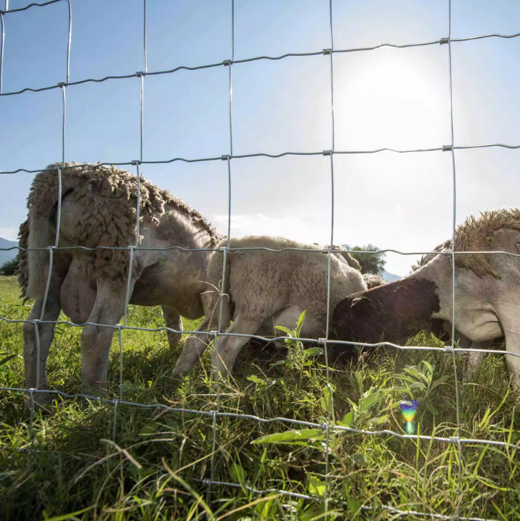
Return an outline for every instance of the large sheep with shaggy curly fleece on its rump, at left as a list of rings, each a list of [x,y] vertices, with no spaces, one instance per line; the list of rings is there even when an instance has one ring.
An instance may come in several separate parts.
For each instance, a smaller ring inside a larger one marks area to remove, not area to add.
[[[47,248],[56,238],[58,208],[58,164],[34,178],[27,208],[28,218],[20,228],[20,245]],[[59,247],[135,245],[137,177],[113,166],[69,164],[62,170],[63,197]],[[189,208],[166,190],[140,179],[141,247],[212,248],[222,236],[199,212]],[[210,252],[182,250],[135,250],[130,284],[130,302],[142,306],[161,305],[166,326],[182,330],[181,315],[196,319],[203,315],[203,285]],[[41,316],[49,252],[20,252],[19,282],[22,294],[35,300],[29,319]],[[130,254],[128,250],[56,250],[44,321],[58,320],[63,309],[72,322],[117,324],[125,310]],[[25,386],[47,388],[45,363],[54,337],[54,324],[39,324],[40,381],[34,324],[24,333]],[[106,367],[114,329],[84,326],[81,335],[82,381],[86,392],[96,392],[106,382]],[[180,334],[169,333],[170,344]],[[40,403],[49,395],[38,395]],[[36,395],[35,395],[36,398]]]

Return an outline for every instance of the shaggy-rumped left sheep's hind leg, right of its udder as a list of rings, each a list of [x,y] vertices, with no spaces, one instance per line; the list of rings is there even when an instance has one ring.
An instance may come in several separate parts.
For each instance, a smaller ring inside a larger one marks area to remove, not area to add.
[[[131,280],[132,294],[135,278]],[[124,315],[126,286],[115,288],[109,280],[98,280],[98,293],[88,322],[115,326]],[[98,394],[106,388],[113,327],[87,325],[81,333],[81,369],[84,392]]]

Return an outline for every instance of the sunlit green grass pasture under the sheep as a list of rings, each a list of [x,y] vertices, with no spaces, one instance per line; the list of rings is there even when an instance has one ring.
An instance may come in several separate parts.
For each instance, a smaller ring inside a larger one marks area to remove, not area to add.
[[[0,277],[0,315],[22,319],[30,302],[18,300],[14,277]],[[131,307],[128,325],[163,325],[156,308]],[[194,329],[200,321],[184,322]],[[166,333],[128,331],[124,346],[124,397],[128,401],[211,411],[216,384],[205,353],[185,379],[172,377],[181,346],[170,349]],[[421,333],[410,345],[440,345]],[[47,362],[49,385],[80,392],[80,328],[58,326]],[[398,407],[419,402],[416,431],[456,435],[455,390],[449,353],[373,350],[330,373],[333,406],[324,395],[324,357],[295,341],[288,356],[248,346],[234,376],[221,384],[221,410],[263,418],[321,423],[325,409],[335,421],[364,430],[404,433]],[[119,396],[119,353],[109,365]],[[520,441],[517,394],[508,386],[504,357],[486,357],[470,380],[460,378],[461,436]],[[0,326],[0,386],[23,387],[21,324]],[[323,398],[323,399],[321,399]],[[293,425],[218,417],[214,480],[315,496],[253,494],[201,483],[210,477],[212,418],[159,408],[117,407],[86,399],[56,399],[51,412],[36,412],[34,427],[23,395],[0,391],[0,519],[19,520],[317,520],[395,519],[400,510],[461,518],[520,519],[520,458],[516,448],[464,443],[458,483],[456,443],[339,432],[330,434],[328,513],[324,512],[325,432],[280,436]],[[304,429],[302,427],[302,429]],[[276,436],[278,434],[278,436]],[[273,435],[261,439],[262,436]],[[260,439],[263,443],[253,443]],[[460,486],[461,495],[457,495]],[[457,500],[459,501],[457,503]],[[365,507],[362,509],[361,507]],[[367,509],[370,507],[371,509]],[[400,519],[427,519],[406,514]]]

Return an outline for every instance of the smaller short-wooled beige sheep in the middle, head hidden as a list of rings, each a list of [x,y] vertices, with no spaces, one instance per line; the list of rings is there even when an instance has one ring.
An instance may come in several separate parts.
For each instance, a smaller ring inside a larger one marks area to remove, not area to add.
[[[226,243],[221,243],[225,246]],[[289,239],[273,237],[245,237],[231,241],[231,248],[267,247],[307,248],[319,252],[321,248],[302,245]],[[220,315],[219,293],[216,288],[222,278],[223,253],[214,252],[210,259],[206,318],[197,331],[203,334],[188,338],[177,361],[174,373],[191,369],[210,340],[208,331],[218,327],[221,318],[223,331],[245,335],[274,332],[277,325],[293,329],[302,311],[306,311],[302,337],[318,338],[326,332],[328,255],[310,252],[265,250],[236,250],[227,254],[227,277]],[[341,298],[354,291],[366,289],[359,271],[348,265],[344,256],[330,257],[330,309]],[[284,333],[278,333],[284,335]],[[213,353],[213,366],[221,374],[230,373],[240,348],[247,337],[223,336],[218,340],[219,359]]]

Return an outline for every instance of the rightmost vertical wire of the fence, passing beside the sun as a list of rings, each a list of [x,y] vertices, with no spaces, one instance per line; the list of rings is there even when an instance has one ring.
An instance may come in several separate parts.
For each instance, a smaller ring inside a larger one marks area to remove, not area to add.
[[[457,176],[455,170],[455,147],[453,137],[453,85],[451,71],[451,0],[448,0],[448,63],[449,63],[449,108],[450,108],[450,133],[451,133],[451,171],[453,175],[453,221],[451,230],[451,356],[453,360],[453,375],[455,377],[455,407],[457,417],[457,443],[458,479],[457,479],[457,503],[456,518],[460,517],[460,501],[462,491],[462,445],[460,443],[460,397],[459,381],[457,375],[457,357],[455,356],[455,232],[457,226]]]

